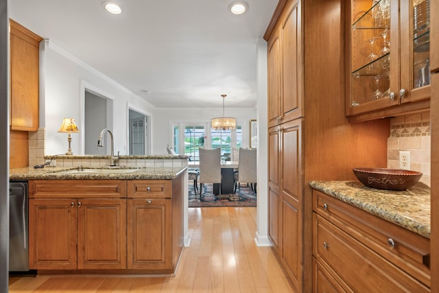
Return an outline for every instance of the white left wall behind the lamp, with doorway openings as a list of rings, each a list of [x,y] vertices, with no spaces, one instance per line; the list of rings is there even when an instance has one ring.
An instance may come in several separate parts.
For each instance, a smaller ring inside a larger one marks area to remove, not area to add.
[[[45,154],[67,151],[67,134],[58,133],[63,117],[72,117],[84,129],[84,87],[114,100],[107,128],[115,134],[115,153],[128,153],[128,104],[154,119],[156,108],[114,80],[89,67],[51,40],[40,45],[40,128],[45,128]],[[84,132],[72,134],[74,154],[84,154]]]

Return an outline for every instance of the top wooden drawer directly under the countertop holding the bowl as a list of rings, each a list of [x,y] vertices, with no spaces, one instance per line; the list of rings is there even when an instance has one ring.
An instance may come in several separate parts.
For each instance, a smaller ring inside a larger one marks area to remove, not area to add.
[[[430,286],[429,239],[316,190],[313,210]]]

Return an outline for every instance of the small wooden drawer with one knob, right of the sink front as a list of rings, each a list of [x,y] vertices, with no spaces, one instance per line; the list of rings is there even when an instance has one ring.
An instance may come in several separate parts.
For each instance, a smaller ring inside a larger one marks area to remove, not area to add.
[[[171,198],[171,180],[128,181],[128,198]]]

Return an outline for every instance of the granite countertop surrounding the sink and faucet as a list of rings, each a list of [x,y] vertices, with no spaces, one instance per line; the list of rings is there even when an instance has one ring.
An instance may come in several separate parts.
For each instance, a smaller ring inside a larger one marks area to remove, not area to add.
[[[94,169],[113,169],[115,172],[105,174],[91,174],[90,172],[60,173],[75,169],[78,169],[78,167],[17,168],[10,169],[9,178],[10,180],[171,180],[184,172],[187,167],[99,167]],[[84,167],[84,169],[93,168]],[[134,169],[134,171],[128,173],[117,172],[117,170],[123,169]]]

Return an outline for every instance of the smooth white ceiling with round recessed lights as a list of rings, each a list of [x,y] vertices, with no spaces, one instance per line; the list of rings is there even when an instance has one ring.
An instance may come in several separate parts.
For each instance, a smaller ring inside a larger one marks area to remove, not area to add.
[[[157,107],[256,105],[257,40],[278,0],[10,0],[10,18]],[[149,91],[150,93],[145,93]]]

